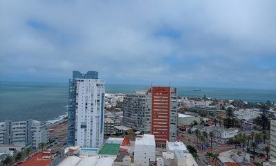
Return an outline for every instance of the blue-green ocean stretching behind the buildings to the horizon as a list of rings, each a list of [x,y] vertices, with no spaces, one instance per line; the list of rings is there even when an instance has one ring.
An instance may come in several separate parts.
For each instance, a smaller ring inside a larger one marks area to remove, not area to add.
[[[135,93],[150,86],[107,84],[106,93]],[[176,86],[178,96],[276,102],[276,89],[226,89]],[[201,91],[193,91],[201,89]],[[0,82],[0,122],[4,120],[39,120],[54,122],[66,116],[68,84]]]

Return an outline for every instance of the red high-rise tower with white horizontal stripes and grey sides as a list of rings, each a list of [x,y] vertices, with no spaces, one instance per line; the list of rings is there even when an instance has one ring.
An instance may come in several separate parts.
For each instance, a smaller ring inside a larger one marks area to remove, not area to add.
[[[153,86],[146,94],[145,133],[154,134],[156,147],[165,147],[167,140],[176,141],[176,88]]]

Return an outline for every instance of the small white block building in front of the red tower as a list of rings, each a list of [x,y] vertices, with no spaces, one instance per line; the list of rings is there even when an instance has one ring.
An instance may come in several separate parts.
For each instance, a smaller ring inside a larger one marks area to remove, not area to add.
[[[149,161],[155,161],[154,135],[138,135],[134,146],[134,163],[146,166],[149,165]]]

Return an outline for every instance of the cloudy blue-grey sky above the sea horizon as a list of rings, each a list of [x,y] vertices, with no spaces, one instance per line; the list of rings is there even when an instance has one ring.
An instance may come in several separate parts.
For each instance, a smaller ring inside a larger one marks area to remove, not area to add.
[[[276,1],[0,1],[0,81],[276,89]]]

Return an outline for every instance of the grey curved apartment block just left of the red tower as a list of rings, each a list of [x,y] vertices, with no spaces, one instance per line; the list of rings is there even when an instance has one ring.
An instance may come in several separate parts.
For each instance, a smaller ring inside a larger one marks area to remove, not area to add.
[[[145,130],[145,92],[124,96],[122,124],[138,131]]]

